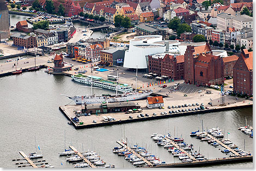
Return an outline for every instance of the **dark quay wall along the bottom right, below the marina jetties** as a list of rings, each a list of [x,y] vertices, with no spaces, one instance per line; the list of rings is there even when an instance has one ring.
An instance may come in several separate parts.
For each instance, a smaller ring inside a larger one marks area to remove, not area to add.
[[[211,166],[216,164],[248,162],[248,161],[253,161],[253,156],[220,158],[220,159],[212,159],[212,160],[198,161],[198,162],[191,162],[191,163],[161,164],[159,166],[153,166],[153,167],[154,168],[171,168],[171,167],[187,168],[187,167],[202,167],[202,166]]]

